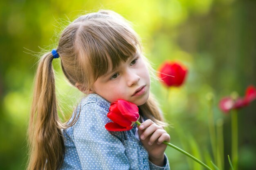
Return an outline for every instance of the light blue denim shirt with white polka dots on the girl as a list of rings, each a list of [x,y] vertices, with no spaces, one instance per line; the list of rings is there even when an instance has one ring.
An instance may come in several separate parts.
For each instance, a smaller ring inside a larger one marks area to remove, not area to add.
[[[65,157],[61,170],[169,170],[148,160],[148,153],[136,138],[135,125],[129,131],[110,132],[105,124],[110,103],[97,94],[82,99],[74,126],[64,129]],[[74,117],[75,114],[73,114]]]

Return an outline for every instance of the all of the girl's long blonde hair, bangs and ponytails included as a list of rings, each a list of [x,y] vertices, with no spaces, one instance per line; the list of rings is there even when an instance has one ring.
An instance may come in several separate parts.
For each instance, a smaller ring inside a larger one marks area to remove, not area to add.
[[[80,16],[64,29],[57,47],[65,77],[73,86],[83,84],[85,91],[110,65],[115,69],[138,50],[141,45],[137,34],[128,21],[113,11]],[[51,52],[40,58],[34,80],[28,131],[29,170],[58,170],[65,155],[61,129],[70,124],[63,124],[58,117],[53,59]],[[145,117],[164,125],[153,97],[139,109]]]

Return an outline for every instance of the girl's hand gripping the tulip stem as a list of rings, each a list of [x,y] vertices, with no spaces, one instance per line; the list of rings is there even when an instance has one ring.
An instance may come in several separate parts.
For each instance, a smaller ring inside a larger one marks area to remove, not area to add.
[[[157,166],[164,166],[164,151],[167,145],[163,141],[170,142],[170,135],[162,126],[147,119],[138,127],[139,139],[148,151],[149,160]]]

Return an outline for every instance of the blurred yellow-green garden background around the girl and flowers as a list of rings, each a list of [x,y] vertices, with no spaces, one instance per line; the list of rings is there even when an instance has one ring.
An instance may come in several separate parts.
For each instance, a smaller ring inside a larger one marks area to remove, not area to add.
[[[216,122],[223,120],[225,169],[231,155],[230,115],[219,100],[256,85],[255,0],[2,0],[0,1],[0,170],[24,170],[33,79],[41,49],[56,48],[58,35],[78,15],[111,9],[133,23],[146,57],[157,69],[178,60],[189,69],[185,84],[166,89],[156,80],[155,94],[172,124],[171,143],[209,163],[208,130],[214,95]],[[68,117],[82,94],[70,86],[54,60],[58,101]],[[169,93],[168,98],[167,93]],[[256,101],[238,111],[239,169],[256,169]],[[202,170],[184,155],[166,149],[173,170]]]

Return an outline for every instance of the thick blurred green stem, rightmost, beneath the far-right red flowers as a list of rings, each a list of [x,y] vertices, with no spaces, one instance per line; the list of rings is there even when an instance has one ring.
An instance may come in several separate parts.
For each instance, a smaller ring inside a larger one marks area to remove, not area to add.
[[[238,169],[238,123],[237,123],[237,110],[231,111],[231,133],[232,133],[232,163],[234,170]]]

